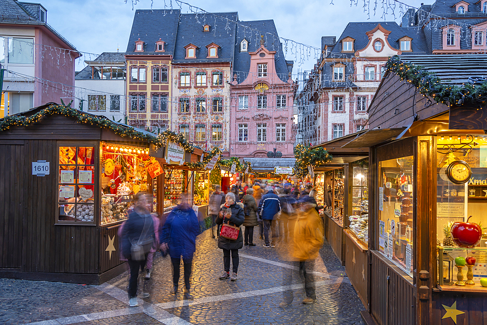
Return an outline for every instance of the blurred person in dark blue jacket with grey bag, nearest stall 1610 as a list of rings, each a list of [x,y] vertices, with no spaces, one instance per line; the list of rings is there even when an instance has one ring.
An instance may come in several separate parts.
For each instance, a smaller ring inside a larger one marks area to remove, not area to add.
[[[130,268],[129,306],[139,306],[137,303],[137,278],[139,269],[142,271],[147,263],[147,255],[155,244],[154,222],[147,210],[147,195],[145,192],[135,194],[135,207],[129,213],[122,230],[122,253],[128,260]],[[141,293],[141,298],[149,297],[149,293]]]

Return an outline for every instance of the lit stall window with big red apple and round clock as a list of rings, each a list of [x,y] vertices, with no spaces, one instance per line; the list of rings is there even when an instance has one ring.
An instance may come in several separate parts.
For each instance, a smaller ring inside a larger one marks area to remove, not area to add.
[[[437,137],[438,283],[477,286],[487,277],[487,136]]]

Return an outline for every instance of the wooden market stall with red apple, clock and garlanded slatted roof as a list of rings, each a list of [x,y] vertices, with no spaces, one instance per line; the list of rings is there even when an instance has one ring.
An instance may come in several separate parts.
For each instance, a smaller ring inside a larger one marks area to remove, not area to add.
[[[393,57],[344,146],[370,148],[367,324],[487,324],[486,59]]]

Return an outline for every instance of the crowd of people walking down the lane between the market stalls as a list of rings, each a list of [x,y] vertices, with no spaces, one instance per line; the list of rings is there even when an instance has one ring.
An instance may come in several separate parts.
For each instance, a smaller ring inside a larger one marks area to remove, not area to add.
[[[212,238],[218,239],[217,246],[223,251],[224,270],[219,279],[238,280],[239,249],[256,246],[254,227],[259,227],[263,247],[277,247],[276,253],[296,266],[284,272],[284,280],[291,283],[294,276],[303,277],[306,292],[303,303],[314,303],[316,292],[312,270],[324,240],[323,224],[318,214],[323,207],[317,204],[316,190],[310,184],[293,187],[290,183],[269,184],[258,180],[253,185],[238,182],[226,193],[221,191],[220,185],[214,185],[213,190],[208,214],[212,222]],[[144,272],[144,277],[150,279],[156,250],[163,256],[170,256],[173,270],[170,292],[173,294],[179,291],[182,260],[184,293],[191,299],[190,275],[199,234],[198,216],[192,209],[192,198],[187,194],[181,196],[179,204],[160,225],[157,215],[149,212],[146,193],[135,195],[128,219],[119,229],[122,258],[128,261],[130,268],[130,306],[138,306],[137,279],[139,273]],[[140,291],[139,297],[149,297],[145,287]],[[285,291],[280,306],[285,307],[292,300],[292,291]]]

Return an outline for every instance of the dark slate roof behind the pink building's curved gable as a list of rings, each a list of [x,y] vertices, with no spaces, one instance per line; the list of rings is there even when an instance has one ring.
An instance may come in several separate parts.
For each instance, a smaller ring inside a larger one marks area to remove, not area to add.
[[[261,35],[264,36],[264,46],[269,51],[276,51],[274,56],[276,72],[279,78],[287,82],[289,70],[282,51],[282,44],[277,33],[274,20],[239,21],[237,24],[237,40],[235,41],[235,61],[232,75],[237,75],[237,82],[242,83],[250,70],[250,56],[248,52],[255,52],[261,46]],[[240,42],[248,41],[248,52],[240,52]]]

